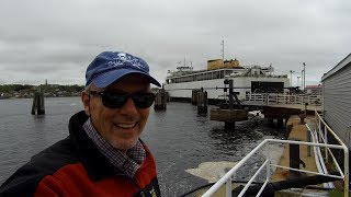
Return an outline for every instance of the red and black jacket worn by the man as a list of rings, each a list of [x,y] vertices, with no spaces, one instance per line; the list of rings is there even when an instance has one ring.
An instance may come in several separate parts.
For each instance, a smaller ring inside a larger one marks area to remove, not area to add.
[[[160,196],[154,157],[133,178],[115,169],[82,129],[83,112],[71,117],[69,137],[32,158],[0,187],[0,196]]]

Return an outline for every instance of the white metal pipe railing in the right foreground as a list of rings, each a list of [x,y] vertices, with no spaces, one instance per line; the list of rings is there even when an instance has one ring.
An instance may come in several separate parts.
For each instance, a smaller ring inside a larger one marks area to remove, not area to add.
[[[248,181],[246,186],[241,189],[240,194],[238,196],[244,196],[249,186],[252,184],[252,182],[256,179],[258,174],[262,172],[263,169],[267,169],[265,174],[265,181],[261,186],[261,189],[258,192],[257,196],[260,196],[263,192],[267,184],[270,182],[271,177],[271,166],[273,167],[280,167],[290,171],[295,172],[303,172],[303,173],[309,173],[315,175],[322,175],[326,177],[333,177],[339,178],[343,181],[343,189],[344,189],[344,196],[349,196],[349,150],[348,147],[340,140],[340,138],[332,131],[332,129],[322,120],[320,115],[316,113],[316,121],[317,121],[317,132],[319,134],[319,137],[322,142],[315,143],[315,142],[305,142],[305,141],[293,141],[293,140],[279,140],[279,139],[264,139],[260,144],[258,144],[250,153],[248,153],[244,159],[241,159],[229,172],[227,172],[219,181],[217,181],[205,194],[203,194],[203,197],[213,196],[222,186],[226,185],[226,196],[231,196],[233,193],[233,185],[231,179],[236,172],[240,170],[241,166],[251,158],[253,157],[260,149],[262,149],[265,144],[269,143],[285,143],[285,144],[302,144],[302,146],[313,146],[313,147],[321,147],[326,149],[326,160],[329,160],[329,157],[332,159],[333,164],[336,166],[336,170],[339,172],[340,175],[330,175],[326,173],[319,173],[319,172],[313,172],[313,171],[305,171],[299,169],[293,169],[288,166],[282,166],[276,164],[271,164],[271,160],[269,157],[267,157],[267,160],[263,162],[263,164],[259,167],[259,170],[254,173],[254,175]],[[328,134],[335,137],[337,141],[340,144],[328,144]],[[343,150],[343,171],[339,166],[333,153],[330,149],[339,149]]]

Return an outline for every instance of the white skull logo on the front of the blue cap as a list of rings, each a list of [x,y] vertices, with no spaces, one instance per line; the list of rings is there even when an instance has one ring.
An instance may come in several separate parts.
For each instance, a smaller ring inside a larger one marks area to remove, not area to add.
[[[112,58],[112,60],[109,61],[107,65],[111,67],[132,66],[136,67],[139,70],[145,70],[143,63],[138,58],[124,53],[117,54],[117,57]]]

